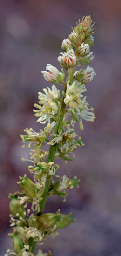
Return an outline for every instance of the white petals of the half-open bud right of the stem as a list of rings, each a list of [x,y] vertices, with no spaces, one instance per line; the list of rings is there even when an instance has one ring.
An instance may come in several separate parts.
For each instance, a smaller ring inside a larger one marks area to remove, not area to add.
[[[83,79],[82,79],[83,83],[92,81],[94,75],[96,75],[96,73],[94,72],[94,69],[89,66],[83,70],[82,74],[84,74]]]

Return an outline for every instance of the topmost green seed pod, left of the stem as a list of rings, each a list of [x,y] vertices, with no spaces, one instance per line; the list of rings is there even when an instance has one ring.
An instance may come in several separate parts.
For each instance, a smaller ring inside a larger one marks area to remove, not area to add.
[[[17,182],[17,184],[20,184],[22,189],[25,190],[26,195],[32,200],[33,197],[36,196],[36,187],[33,181],[27,178],[27,175],[25,174],[24,177],[20,177],[20,182]]]

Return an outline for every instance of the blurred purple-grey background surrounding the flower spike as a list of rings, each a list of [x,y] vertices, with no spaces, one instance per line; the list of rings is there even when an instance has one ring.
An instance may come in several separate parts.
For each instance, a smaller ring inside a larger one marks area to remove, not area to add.
[[[59,231],[52,243],[54,256],[121,256],[121,1],[120,0],[4,0],[0,1],[0,256],[11,248],[9,192],[27,171],[29,155],[22,149],[25,128],[39,131],[33,114],[37,92],[51,86],[41,70],[47,63],[60,68],[61,42],[83,15],[95,21],[96,72],[87,85],[87,101],[94,107],[94,123],[75,126],[85,144],[76,158],[59,171],[81,180],[68,191],[67,201],[48,199],[45,211],[70,211],[76,222]]]

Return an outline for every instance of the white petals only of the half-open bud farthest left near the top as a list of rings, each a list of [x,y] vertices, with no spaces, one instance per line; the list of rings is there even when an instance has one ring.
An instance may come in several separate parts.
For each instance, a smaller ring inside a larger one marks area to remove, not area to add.
[[[41,71],[41,73],[44,75],[45,80],[49,82],[58,81],[57,76],[59,74],[59,70],[56,67],[51,64],[47,64],[46,70],[48,71]]]

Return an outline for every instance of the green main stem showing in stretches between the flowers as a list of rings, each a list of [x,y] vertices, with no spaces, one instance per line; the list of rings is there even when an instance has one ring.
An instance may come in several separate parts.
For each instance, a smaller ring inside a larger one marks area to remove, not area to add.
[[[74,71],[75,71],[75,67],[69,69],[67,82],[73,79]],[[67,90],[67,85],[65,86],[64,93],[66,93],[66,90]],[[61,110],[58,113],[55,129],[54,129],[54,134],[58,134],[58,128],[62,124],[62,121],[63,121],[65,108],[66,108],[66,104],[64,103],[64,98],[65,97],[63,96],[62,100],[61,100]],[[47,162],[54,162],[56,148],[57,148],[57,143],[54,144],[53,146],[50,146]],[[43,195],[42,195],[43,200],[40,202],[40,210],[41,210],[40,214],[42,214],[44,206],[45,206],[45,202],[47,200],[46,194],[47,194],[48,189],[49,189],[49,183],[50,183],[50,180],[47,180],[46,184],[45,184],[45,190],[44,190]],[[32,241],[31,241],[31,243],[32,243]],[[35,244],[33,243],[32,244],[32,250],[31,250],[33,253],[34,253],[34,247],[35,247]]]

